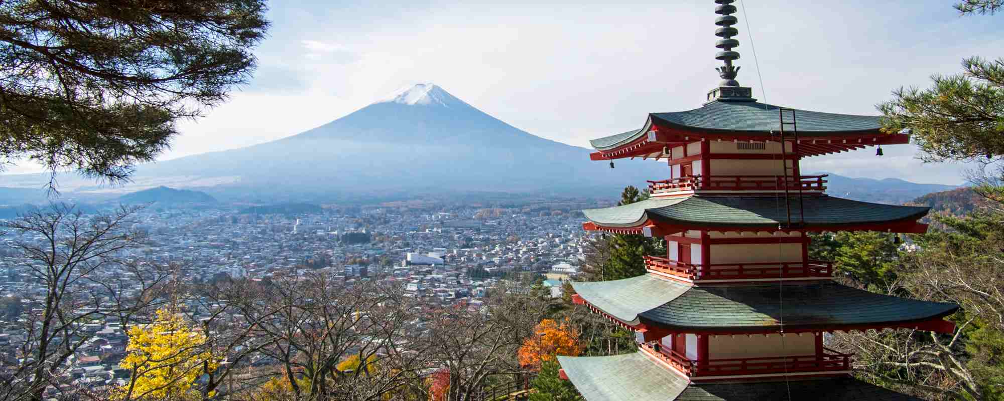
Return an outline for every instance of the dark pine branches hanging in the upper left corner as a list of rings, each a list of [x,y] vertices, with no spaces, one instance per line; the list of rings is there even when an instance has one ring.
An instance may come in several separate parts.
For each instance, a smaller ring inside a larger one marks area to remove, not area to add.
[[[247,82],[264,0],[0,2],[0,167],[109,181]]]

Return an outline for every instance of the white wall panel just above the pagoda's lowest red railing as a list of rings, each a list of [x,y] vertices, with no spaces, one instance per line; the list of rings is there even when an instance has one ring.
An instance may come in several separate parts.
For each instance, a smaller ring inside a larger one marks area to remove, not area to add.
[[[815,337],[811,333],[788,334],[782,347],[778,334],[712,336],[708,339],[708,353],[712,360],[815,355]]]

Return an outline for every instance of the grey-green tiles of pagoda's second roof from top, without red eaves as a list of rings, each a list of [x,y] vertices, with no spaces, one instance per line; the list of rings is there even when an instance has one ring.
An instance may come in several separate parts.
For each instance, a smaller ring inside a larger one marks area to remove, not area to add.
[[[870,204],[829,195],[790,202],[792,222],[800,222],[804,205],[806,227],[852,227],[917,221],[927,207]],[[634,204],[582,211],[589,222],[604,228],[640,228],[648,222],[679,228],[777,228],[787,222],[783,198],[776,196],[701,196],[648,198]],[[669,233],[667,233],[669,234]]]

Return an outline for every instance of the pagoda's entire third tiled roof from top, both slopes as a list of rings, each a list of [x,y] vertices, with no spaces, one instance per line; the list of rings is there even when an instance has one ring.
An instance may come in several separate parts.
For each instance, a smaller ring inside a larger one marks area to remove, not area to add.
[[[688,286],[645,275],[572,287],[589,305],[622,323],[682,333],[775,332],[782,328],[782,317],[789,331],[907,326],[959,309],[956,304],[891,297],[833,282]]]

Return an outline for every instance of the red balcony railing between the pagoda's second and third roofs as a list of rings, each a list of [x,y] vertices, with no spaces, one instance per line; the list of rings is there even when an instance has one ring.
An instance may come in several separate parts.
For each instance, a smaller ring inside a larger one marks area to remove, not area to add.
[[[645,257],[646,269],[690,280],[831,277],[833,264],[822,261],[691,265],[666,258]]]

